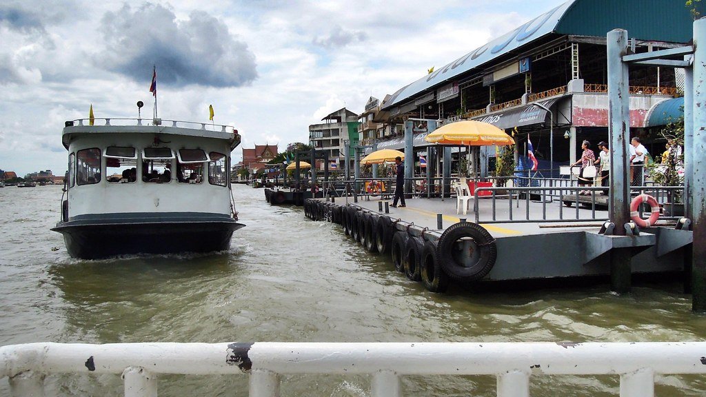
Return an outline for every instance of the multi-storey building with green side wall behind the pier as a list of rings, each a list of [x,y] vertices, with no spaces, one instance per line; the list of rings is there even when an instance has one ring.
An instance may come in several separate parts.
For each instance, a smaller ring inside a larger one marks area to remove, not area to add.
[[[323,123],[309,126],[309,144],[316,150],[328,152],[330,162],[342,170],[347,143],[359,142],[358,114],[343,107],[321,119]],[[352,154],[352,153],[351,153]],[[318,165],[323,167],[323,165]]]

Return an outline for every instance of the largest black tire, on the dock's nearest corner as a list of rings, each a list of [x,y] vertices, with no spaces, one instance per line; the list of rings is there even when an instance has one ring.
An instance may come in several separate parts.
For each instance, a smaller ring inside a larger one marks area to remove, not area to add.
[[[437,251],[446,274],[462,282],[483,278],[498,256],[493,236],[481,225],[470,222],[446,229],[439,237]]]

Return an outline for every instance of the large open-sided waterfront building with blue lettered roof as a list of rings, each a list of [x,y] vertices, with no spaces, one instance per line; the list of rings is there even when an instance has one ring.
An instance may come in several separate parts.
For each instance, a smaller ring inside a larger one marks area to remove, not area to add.
[[[549,176],[553,157],[551,174],[558,176],[583,140],[608,140],[606,33],[628,30],[635,53],[670,49],[689,42],[692,19],[671,0],[567,1],[400,88],[381,105],[383,121],[489,122],[514,133],[519,153],[526,153],[530,134],[539,169]],[[631,135],[650,141],[650,127],[666,123],[662,109],[674,107],[666,101],[682,88],[683,74],[674,68],[631,68]],[[429,145],[424,134],[414,136],[415,150]],[[378,143],[403,146],[401,137]]]

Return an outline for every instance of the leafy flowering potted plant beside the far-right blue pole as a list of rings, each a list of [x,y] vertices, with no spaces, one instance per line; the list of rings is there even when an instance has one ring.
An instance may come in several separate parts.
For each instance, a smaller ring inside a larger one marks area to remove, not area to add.
[[[666,150],[662,161],[650,166],[650,177],[660,186],[683,186],[684,184],[684,118],[670,122],[659,132],[666,139]],[[683,190],[676,189],[667,192],[664,208],[668,215],[681,216],[684,213],[682,198]]]

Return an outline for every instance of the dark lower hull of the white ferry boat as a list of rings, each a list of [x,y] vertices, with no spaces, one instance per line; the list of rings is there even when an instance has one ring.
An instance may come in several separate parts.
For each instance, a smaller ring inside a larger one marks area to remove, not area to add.
[[[52,230],[64,235],[68,254],[101,259],[126,254],[224,251],[244,227],[227,215],[203,213],[82,215]]]

